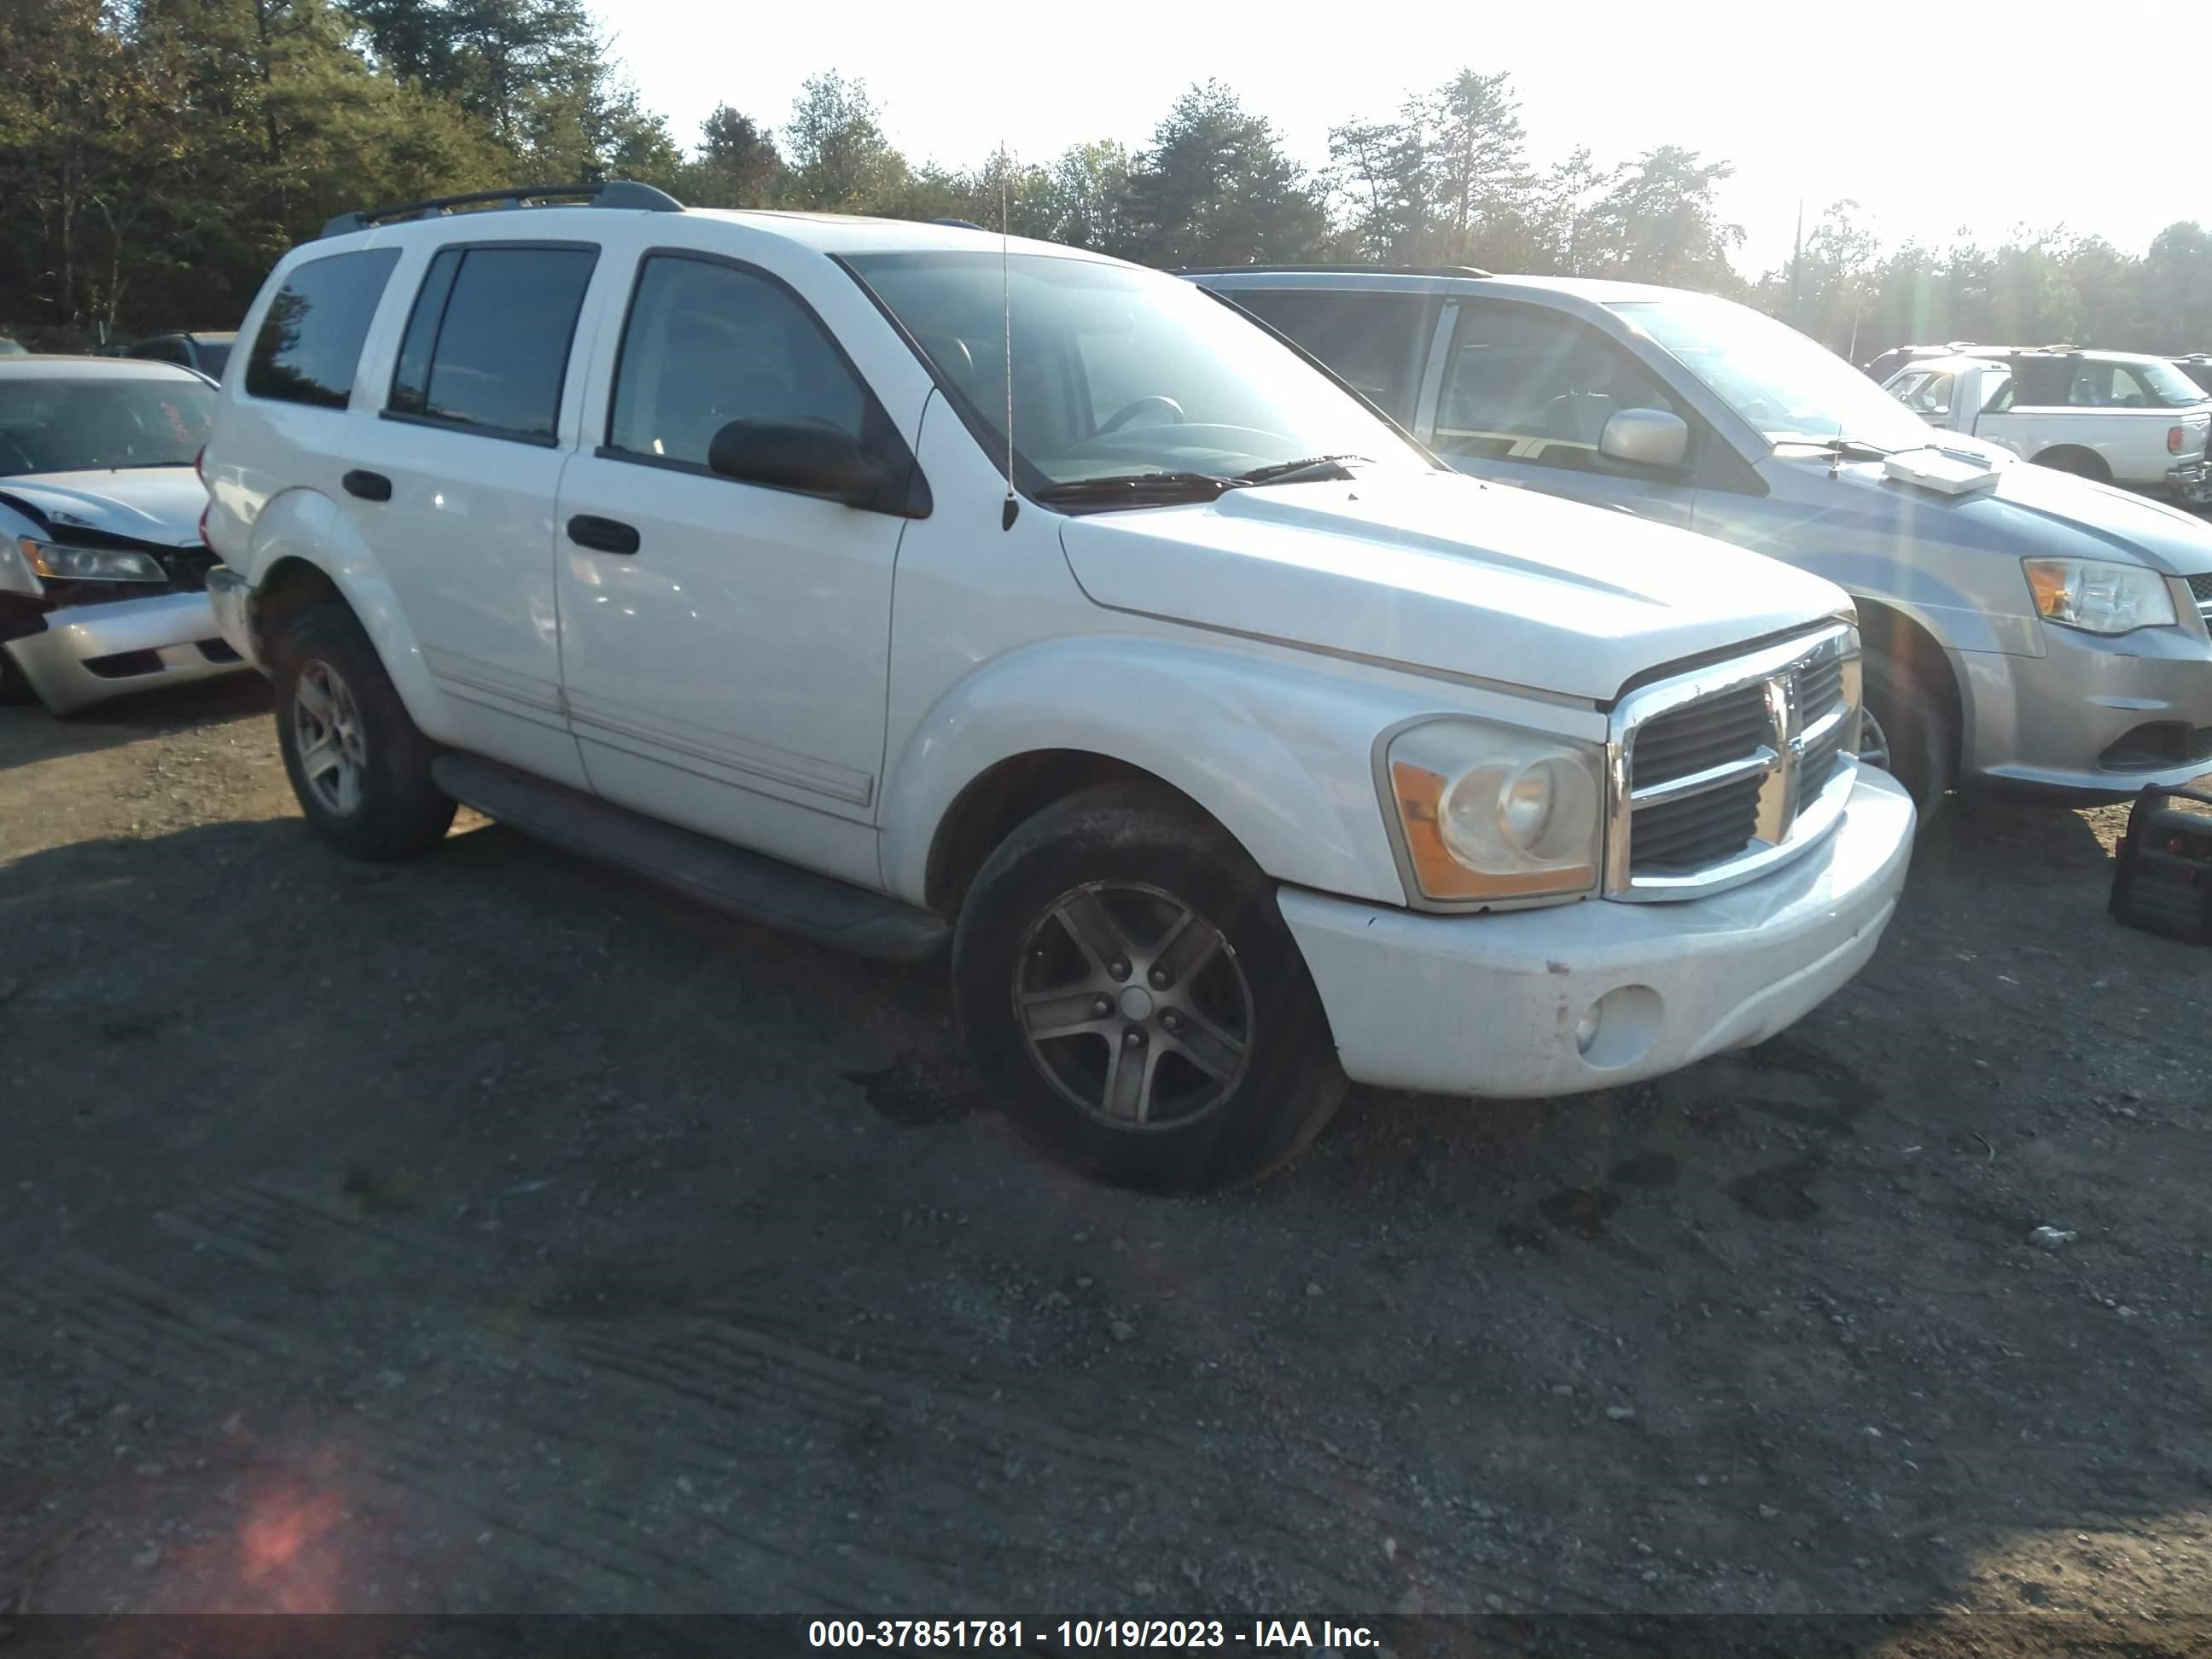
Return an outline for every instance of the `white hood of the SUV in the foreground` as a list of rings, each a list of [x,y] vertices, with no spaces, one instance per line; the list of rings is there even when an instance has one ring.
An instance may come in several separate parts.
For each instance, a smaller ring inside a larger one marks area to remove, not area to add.
[[[1593,703],[1849,604],[1705,535],[1458,473],[1232,489],[1071,518],[1060,538],[1115,611]]]

